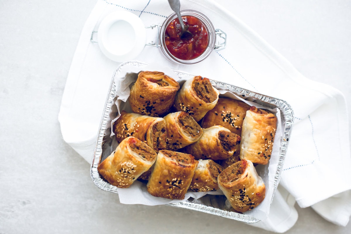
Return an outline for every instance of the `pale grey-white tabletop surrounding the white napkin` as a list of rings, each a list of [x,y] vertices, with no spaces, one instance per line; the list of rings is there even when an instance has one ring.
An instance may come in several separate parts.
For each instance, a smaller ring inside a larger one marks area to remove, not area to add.
[[[349,0],[218,0],[307,78],[351,105]],[[170,206],[120,204],[96,187],[90,165],[57,120],[81,29],[96,0],[0,2],[0,233],[269,233]],[[311,208],[286,233],[351,232]],[[157,230],[155,230],[157,228]]]

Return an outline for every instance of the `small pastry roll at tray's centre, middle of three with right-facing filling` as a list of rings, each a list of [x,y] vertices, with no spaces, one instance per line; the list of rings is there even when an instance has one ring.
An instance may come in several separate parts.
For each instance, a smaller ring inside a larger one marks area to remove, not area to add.
[[[167,114],[167,149],[177,150],[199,140],[203,134],[200,125],[184,111]]]

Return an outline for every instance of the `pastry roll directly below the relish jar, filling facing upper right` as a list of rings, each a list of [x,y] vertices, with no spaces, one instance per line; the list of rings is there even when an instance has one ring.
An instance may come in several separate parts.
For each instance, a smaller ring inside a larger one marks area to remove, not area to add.
[[[200,121],[218,101],[219,92],[212,87],[209,79],[195,76],[185,81],[174,101],[177,111],[185,111],[195,121]]]

